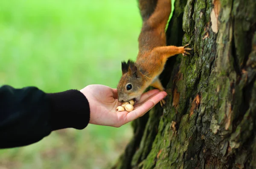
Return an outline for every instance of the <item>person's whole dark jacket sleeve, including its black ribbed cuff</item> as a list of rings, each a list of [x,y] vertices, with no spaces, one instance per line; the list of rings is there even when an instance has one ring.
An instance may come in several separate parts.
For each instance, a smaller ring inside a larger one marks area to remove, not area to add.
[[[89,120],[89,103],[78,90],[44,93],[36,87],[0,87],[0,148],[35,143],[53,130],[81,130]]]

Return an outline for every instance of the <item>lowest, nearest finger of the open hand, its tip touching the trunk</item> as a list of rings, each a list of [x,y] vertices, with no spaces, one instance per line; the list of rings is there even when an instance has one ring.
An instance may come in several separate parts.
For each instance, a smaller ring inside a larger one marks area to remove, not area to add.
[[[157,93],[155,96],[150,98],[148,101],[145,101],[140,107],[136,110],[131,111],[127,114],[125,123],[135,120],[140,116],[144,115],[148,110],[150,110],[154,105],[156,105],[160,100],[162,100],[166,95],[164,93]]]

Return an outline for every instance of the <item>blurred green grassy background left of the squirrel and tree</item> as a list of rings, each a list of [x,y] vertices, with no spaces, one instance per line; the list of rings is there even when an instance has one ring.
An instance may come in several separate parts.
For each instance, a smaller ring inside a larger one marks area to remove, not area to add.
[[[137,56],[137,6],[137,0],[0,0],[0,85],[115,88],[121,61]],[[0,150],[0,169],[104,168],[131,136],[130,124],[59,130],[36,144]]]

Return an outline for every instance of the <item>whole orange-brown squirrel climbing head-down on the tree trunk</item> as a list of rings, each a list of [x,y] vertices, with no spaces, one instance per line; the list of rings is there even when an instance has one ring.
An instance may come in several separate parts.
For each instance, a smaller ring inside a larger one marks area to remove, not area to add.
[[[139,53],[136,62],[122,62],[122,77],[117,85],[118,101],[139,100],[149,86],[164,91],[159,75],[169,57],[187,56],[189,44],[166,46],[165,28],[171,13],[171,0],[139,0],[143,26],[139,36]],[[163,107],[165,100],[161,100]]]

